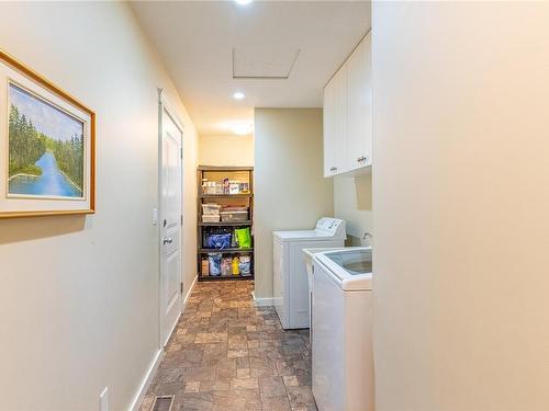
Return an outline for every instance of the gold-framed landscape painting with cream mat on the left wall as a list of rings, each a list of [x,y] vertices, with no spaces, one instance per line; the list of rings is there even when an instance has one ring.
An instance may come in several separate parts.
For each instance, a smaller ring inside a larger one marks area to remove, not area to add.
[[[0,50],[0,218],[94,212],[94,122]]]

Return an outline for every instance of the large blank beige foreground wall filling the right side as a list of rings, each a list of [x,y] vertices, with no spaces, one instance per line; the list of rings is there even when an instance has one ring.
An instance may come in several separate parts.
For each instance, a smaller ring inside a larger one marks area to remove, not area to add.
[[[549,3],[373,9],[378,410],[547,410]]]

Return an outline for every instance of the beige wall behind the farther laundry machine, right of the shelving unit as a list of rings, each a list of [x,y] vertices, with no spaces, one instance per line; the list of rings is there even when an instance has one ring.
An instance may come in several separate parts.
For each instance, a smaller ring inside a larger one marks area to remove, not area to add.
[[[272,231],[311,229],[334,213],[323,178],[322,109],[255,110],[256,297],[272,297]]]

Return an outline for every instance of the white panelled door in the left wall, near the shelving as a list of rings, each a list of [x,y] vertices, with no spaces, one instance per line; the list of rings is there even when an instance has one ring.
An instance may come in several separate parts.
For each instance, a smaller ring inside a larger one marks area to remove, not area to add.
[[[182,129],[161,104],[160,342],[166,345],[181,313]]]

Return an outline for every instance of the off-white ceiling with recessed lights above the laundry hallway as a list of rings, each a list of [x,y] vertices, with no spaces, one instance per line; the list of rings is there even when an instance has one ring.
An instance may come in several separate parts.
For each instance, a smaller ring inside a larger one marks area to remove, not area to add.
[[[324,84],[370,28],[368,1],[131,4],[200,135],[231,134],[254,107],[322,106]]]

